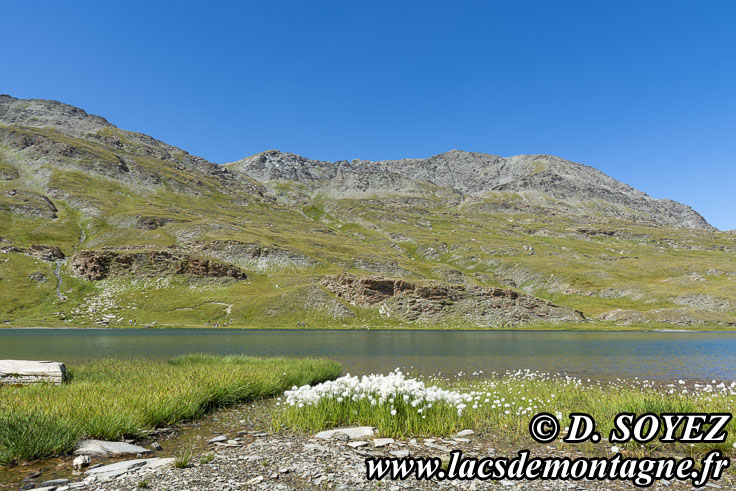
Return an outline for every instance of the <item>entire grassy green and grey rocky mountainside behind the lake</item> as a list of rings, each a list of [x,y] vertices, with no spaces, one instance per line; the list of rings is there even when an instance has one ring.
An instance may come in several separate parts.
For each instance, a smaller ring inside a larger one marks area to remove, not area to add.
[[[6,325],[736,325],[736,234],[551,155],[216,164],[0,95]]]

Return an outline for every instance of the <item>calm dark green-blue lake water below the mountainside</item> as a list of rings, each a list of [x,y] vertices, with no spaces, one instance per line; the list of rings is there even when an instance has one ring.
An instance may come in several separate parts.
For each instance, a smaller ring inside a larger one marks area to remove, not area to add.
[[[72,363],[183,353],[326,357],[353,374],[529,368],[605,379],[736,380],[736,333],[0,329],[0,359]]]

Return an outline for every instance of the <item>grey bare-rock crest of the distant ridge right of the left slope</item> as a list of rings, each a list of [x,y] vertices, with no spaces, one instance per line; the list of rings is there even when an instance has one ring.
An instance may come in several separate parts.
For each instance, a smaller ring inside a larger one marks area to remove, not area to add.
[[[432,191],[427,186],[435,186],[476,199],[489,193],[518,193],[527,206],[541,204],[568,213],[594,211],[642,222],[712,228],[689,206],[654,199],[592,167],[551,155],[499,157],[451,150],[426,159],[324,162],[269,150],[228,167],[261,182],[299,182],[334,197],[426,193]]]

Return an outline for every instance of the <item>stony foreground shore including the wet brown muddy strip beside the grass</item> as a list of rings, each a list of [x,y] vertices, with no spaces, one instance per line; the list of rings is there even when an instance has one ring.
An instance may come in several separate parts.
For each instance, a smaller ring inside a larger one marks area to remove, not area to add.
[[[500,427],[476,430],[470,435],[457,438],[423,435],[395,438],[386,445],[376,444],[374,435],[359,438],[360,446],[353,447],[340,438],[316,438],[314,432],[295,432],[289,429],[270,428],[270,414],[277,399],[269,398],[254,403],[239,404],[210,413],[195,422],[184,422],[161,431],[152,432],[136,444],[150,447],[154,442],[162,450],[143,456],[150,460],[173,460],[188,455],[188,463],[176,468],[171,463],[161,467],[131,466],[128,470],[112,473],[89,473],[72,471],[73,456],[65,455],[52,459],[35,461],[27,465],[0,467],[0,487],[20,484],[21,479],[41,475],[33,480],[42,484],[47,480],[69,479],[70,489],[192,489],[206,490],[213,486],[231,489],[368,489],[375,488],[375,482],[365,478],[365,459],[369,457],[437,457],[448,460],[451,451],[460,450],[464,457],[507,457],[513,458],[522,449],[528,449],[535,457],[556,457],[575,459],[586,457],[611,457],[611,444],[605,439],[596,444],[565,444],[557,440],[551,444],[539,444],[531,438],[515,431],[505,431]],[[494,429],[495,428],[495,429]],[[213,443],[214,437],[229,438],[226,443]],[[689,447],[652,447],[652,456],[689,456]],[[625,457],[636,457],[642,450],[637,446],[622,446],[620,452]],[[139,457],[108,458],[93,460],[96,465],[125,466],[137,462]],[[55,464],[55,465],[50,465]],[[27,482],[27,481],[26,481]],[[726,473],[713,484],[721,487],[736,485],[736,477]],[[387,489],[498,489],[499,485],[510,489],[569,489],[572,482],[560,481],[481,481],[468,482],[405,481],[386,479],[382,486]],[[631,489],[626,481],[607,480],[601,483],[606,489]],[[667,481],[655,483],[655,487],[668,489],[692,489],[690,481]]]

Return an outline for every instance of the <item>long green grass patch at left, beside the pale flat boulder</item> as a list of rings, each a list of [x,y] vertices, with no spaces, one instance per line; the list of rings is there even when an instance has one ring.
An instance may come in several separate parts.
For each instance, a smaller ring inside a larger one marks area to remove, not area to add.
[[[0,387],[0,464],[65,454],[82,438],[140,437],[339,372],[325,360],[207,355],[70,366],[60,386]]]

